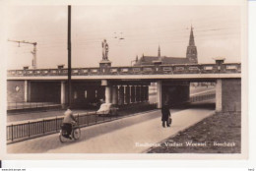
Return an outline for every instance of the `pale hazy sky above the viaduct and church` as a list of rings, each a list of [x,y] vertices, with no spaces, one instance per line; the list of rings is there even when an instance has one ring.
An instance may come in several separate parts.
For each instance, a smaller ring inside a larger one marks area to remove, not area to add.
[[[67,67],[67,6],[10,6],[7,37],[36,42],[37,68]],[[98,67],[106,39],[112,66],[136,56],[185,57],[191,25],[199,63],[241,62],[240,6],[72,6],[72,67]],[[120,39],[120,38],[123,39]],[[32,68],[32,44],[6,41],[7,68]]]

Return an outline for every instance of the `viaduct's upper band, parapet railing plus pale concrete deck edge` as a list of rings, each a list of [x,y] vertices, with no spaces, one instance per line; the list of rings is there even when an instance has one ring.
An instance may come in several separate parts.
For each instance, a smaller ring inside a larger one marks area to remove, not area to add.
[[[73,68],[73,80],[241,78],[240,63]],[[9,70],[7,80],[67,80],[68,69]],[[50,77],[49,77],[50,76]]]

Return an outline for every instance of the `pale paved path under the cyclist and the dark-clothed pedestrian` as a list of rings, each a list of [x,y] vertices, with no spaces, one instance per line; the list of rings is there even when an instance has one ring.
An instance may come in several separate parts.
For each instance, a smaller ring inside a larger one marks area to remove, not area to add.
[[[9,153],[140,153],[211,116],[208,109],[172,111],[173,123],[162,128],[160,110],[82,129],[77,142],[61,143],[58,135],[7,145]]]

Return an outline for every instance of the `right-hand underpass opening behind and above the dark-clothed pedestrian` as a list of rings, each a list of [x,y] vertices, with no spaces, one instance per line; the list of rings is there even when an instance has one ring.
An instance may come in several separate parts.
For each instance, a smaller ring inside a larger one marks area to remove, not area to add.
[[[149,87],[150,103],[159,103],[158,108],[167,103],[170,108],[211,108],[216,109],[216,81],[176,81],[152,82]]]

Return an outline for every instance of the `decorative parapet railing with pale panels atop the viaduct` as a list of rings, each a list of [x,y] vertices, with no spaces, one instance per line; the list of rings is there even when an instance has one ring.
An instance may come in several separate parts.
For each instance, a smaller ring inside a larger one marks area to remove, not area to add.
[[[230,74],[241,73],[240,63],[148,65],[109,68],[73,68],[73,76],[97,75],[175,75],[175,74]],[[8,70],[8,77],[67,76],[67,69]]]

